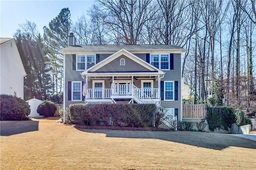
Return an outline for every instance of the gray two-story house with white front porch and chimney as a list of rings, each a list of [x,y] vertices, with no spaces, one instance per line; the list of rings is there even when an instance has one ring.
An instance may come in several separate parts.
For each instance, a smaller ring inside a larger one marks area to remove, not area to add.
[[[176,45],[76,45],[64,55],[64,108],[75,103],[155,103],[182,119],[181,53]],[[83,96],[83,85],[86,93]]]

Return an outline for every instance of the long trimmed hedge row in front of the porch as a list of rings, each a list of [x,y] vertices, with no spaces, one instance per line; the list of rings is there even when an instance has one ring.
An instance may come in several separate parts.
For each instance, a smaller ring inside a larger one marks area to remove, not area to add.
[[[90,125],[90,121],[105,124],[111,121],[114,126],[122,122],[130,127],[144,127],[152,121],[155,112],[154,104],[73,104],[69,106],[66,117],[86,125]]]

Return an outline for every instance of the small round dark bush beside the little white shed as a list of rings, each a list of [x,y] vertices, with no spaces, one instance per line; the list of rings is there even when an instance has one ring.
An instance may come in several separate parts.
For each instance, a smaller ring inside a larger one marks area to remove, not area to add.
[[[40,116],[52,117],[56,109],[56,105],[52,101],[45,100],[37,107],[36,111]]]

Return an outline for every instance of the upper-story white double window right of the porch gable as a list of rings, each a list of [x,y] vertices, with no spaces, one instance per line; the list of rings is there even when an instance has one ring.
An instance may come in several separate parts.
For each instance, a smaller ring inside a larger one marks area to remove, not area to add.
[[[151,54],[150,63],[154,67],[161,70],[170,69],[170,55],[169,54]]]

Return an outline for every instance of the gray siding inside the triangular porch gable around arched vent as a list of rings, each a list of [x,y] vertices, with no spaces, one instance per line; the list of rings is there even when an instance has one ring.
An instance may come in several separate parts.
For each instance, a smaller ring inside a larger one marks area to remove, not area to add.
[[[125,59],[125,65],[120,65],[120,59]],[[132,59],[126,57],[125,55],[121,55],[120,57],[117,57],[110,63],[107,63],[97,71],[150,71],[149,69],[146,69],[144,66],[136,63]]]

